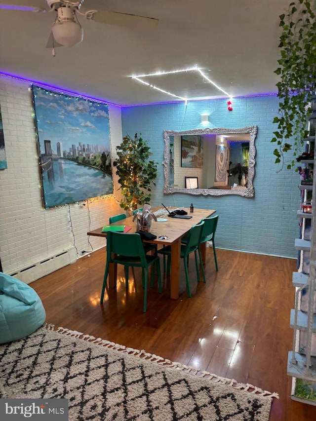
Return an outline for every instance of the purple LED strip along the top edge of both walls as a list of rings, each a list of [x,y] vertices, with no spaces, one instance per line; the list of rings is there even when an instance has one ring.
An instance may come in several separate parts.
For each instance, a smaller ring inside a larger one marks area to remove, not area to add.
[[[89,97],[87,95],[79,94],[78,92],[68,91],[66,89],[58,88],[57,86],[53,86],[53,85],[49,85],[49,84],[46,84],[46,83],[38,82],[36,80],[27,79],[27,78],[21,77],[21,76],[11,75],[9,73],[0,72],[0,76],[10,77],[12,79],[21,80],[23,82],[34,83],[34,84],[39,85],[40,87],[43,87],[43,88],[46,88],[46,89],[53,89],[54,91],[56,91],[58,93],[62,93],[62,94],[66,94],[66,95],[74,95],[74,96],[77,96],[79,98],[86,99],[86,100],[89,100],[89,101],[96,101],[96,102],[100,102],[102,104],[115,105],[116,107],[120,107],[120,108],[143,107],[143,106],[148,106],[148,105],[178,104],[178,103],[184,102],[184,101],[170,101],[170,102],[156,102],[156,103],[148,103],[148,104],[118,105],[118,104],[115,104],[115,103],[112,103],[112,102],[109,102],[109,101],[105,101],[103,99]],[[239,95],[239,96],[235,96],[235,97],[232,97],[232,98],[233,98],[233,101],[234,101],[234,99],[240,99],[240,98],[241,99],[242,98],[255,98],[255,97],[275,96],[275,95],[277,95],[277,92],[253,94],[253,95]],[[228,97],[212,98],[212,99],[196,99],[196,100],[191,99],[191,100],[188,100],[188,102],[193,102],[193,101],[218,101],[218,100],[224,100],[224,99],[226,100],[226,99],[228,99]]]

